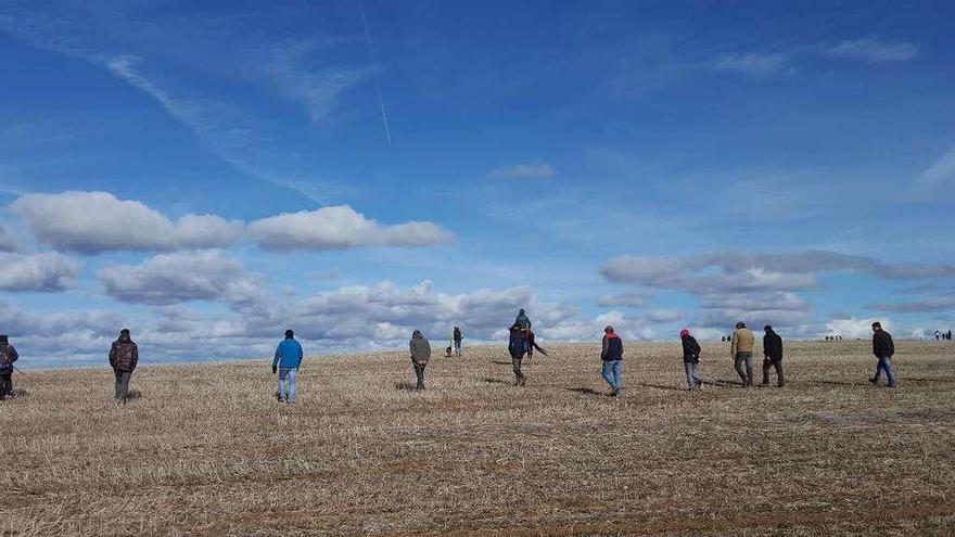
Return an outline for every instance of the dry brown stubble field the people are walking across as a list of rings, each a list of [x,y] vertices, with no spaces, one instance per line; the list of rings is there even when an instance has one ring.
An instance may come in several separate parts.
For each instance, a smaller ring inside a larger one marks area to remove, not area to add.
[[[442,346],[435,344],[435,347]],[[545,345],[546,346],[546,345]],[[27,372],[0,404],[0,535],[955,535],[955,347],[787,346],[784,388],[734,385],[704,345],[558,345],[510,385],[501,348],[307,359],[300,399],[267,361]],[[148,357],[144,357],[148,359]],[[757,382],[761,375],[756,362]]]

